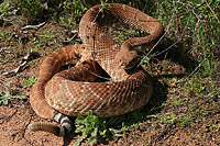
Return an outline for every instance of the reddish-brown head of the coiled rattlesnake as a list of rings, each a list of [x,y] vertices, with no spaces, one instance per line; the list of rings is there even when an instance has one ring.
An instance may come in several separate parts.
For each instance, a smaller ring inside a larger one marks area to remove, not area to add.
[[[135,50],[119,52],[116,55],[116,60],[123,69],[132,69],[139,63],[139,58]]]

